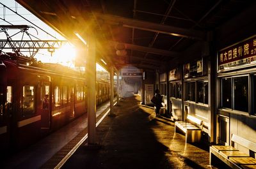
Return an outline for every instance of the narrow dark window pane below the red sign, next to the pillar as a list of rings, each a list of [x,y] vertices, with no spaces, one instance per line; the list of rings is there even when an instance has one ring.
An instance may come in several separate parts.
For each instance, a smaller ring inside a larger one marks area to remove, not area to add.
[[[222,107],[232,108],[231,78],[222,78]]]

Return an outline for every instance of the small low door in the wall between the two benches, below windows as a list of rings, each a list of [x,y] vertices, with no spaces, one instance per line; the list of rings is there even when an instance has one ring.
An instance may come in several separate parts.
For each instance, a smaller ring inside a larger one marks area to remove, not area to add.
[[[217,143],[229,145],[229,118],[224,115],[217,115]]]

